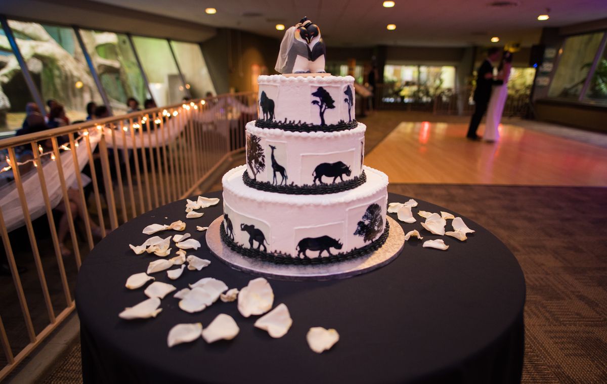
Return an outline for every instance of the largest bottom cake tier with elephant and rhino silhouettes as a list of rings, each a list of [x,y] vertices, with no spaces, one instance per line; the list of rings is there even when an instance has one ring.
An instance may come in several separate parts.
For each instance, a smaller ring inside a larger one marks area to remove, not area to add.
[[[223,241],[268,261],[339,261],[381,246],[387,236],[388,177],[364,167],[367,181],[352,190],[293,195],[255,190],[246,166],[223,176]],[[297,263],[296,263],[297,264]]]

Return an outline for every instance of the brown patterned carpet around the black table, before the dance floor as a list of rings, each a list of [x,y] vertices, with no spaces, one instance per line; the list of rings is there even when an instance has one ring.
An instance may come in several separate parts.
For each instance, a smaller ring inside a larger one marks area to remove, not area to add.
[[[523,383],[607,382],[607,188],[390,185],[498,236],[526,278]],[[44,383],[80,383],[76,344]]]

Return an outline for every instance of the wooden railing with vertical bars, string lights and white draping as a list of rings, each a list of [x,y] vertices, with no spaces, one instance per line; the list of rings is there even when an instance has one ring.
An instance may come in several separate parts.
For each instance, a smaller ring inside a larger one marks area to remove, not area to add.
[[[0,380],[73,311],[78,269],[97,241],[190,196],[242,151],[256,97],[220,95],[0,140],[0,261],[10,270],[0,276]]]

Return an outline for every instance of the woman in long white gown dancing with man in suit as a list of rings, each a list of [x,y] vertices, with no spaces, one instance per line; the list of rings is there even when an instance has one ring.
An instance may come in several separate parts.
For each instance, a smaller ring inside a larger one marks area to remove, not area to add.
[[[487,107],[487,119],[485,123],[485,132],[483,140],[486,142],[496,142],[500,139],[498,126],[500,125],[501,115],[504,112],[506,98],[508,97],[508,78],[512,68],[512,53],[504,52],[504,57],[500,64],[500,73],[498,79],[503,80],[503,85],[493,86],[489,106]]]

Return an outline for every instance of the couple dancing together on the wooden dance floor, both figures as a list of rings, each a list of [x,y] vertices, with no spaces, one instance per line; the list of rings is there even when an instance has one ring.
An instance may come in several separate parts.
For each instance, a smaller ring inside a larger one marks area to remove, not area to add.
[[[474,90],[474,113],[470,119],[470,126],[466,135],[470,140],[481,139],[480,136],[476,135],[476,129],[478,129],[485,112],[487,112],[487,120],[483,140],[492,143],[500,139],[498,126],[508,97],[507,84],[512,68],[512,53],[504,50],[498,67],[498,75],[494,77],[493,63],[497,62],[499,57],[500,49],[489,48],[487,57],[477,71],[476,89]]]

